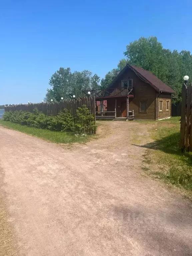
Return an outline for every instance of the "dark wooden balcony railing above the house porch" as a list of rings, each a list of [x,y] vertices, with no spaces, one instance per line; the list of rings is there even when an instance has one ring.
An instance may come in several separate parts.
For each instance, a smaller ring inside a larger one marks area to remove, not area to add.
[[[84,91],[84,93],[87,95],[88,91]],[[133,94],[133,88],[109,88],[104,90],[90,90],[91,95],[95,96],[95,98],[108,98],[108,97],[119,97],[119,96],[134,96]]]

